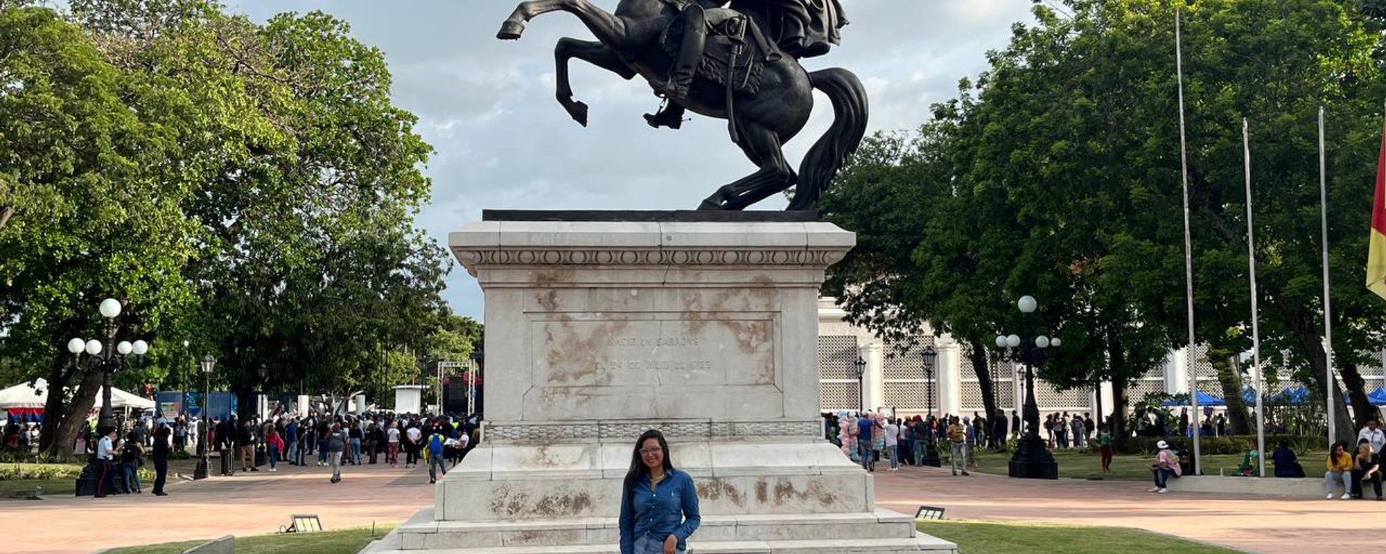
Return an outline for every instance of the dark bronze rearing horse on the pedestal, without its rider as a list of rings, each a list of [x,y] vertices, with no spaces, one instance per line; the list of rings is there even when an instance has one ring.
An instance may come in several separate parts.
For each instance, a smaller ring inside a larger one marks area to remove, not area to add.
[[[577,15],[596,42],[564,37],[554,51],[557,58],[559,104],[574,120],[588,125],[588,105],[572,98],[568,61],[584,60],[624,79],[643,76],[651,87],[668,83],[675,64],[664,42],[671,24],[681,17],[681,6],[692,0],[621,0],[615,14],[589,0],[534,0],[521,3],[500,26],[499,39],[516,40],[525,22],[550,11]],[[816,1],[816,0],[815,0]],[[725,3],[725,0],[722,1]],[[735,7],[735,4],[733,4]],[[754,25],[754,24],[753,24]],[[753,32],[760,32],[753,29]],[[744,36],[743,36],[744,39]],[[773,44],[771,50],[778,50]],[[755,173],[722,186],[707,197],[699,209],[746,209],[766,197],[794,188],[789,209],[812,209],[827,188],[843,159],[854,152],[866,133],[866,90],[850,71],[832,68],[809,73],[791,55],[761,53],[753,64],[739,65],[740,50],[730,57],[725,83],[700,73],[686,97],[669,98],[683,108],[710,118],[728,119],[732,140],[742,148]],[[754,68],[753,65],[758,64]],[[736,83],[755,86],[737,89]],[[808,151],[796,175],[784,159],[783,144],[798,134],[814,109],[814,90],[823,91],[833,104],[832,127]]]

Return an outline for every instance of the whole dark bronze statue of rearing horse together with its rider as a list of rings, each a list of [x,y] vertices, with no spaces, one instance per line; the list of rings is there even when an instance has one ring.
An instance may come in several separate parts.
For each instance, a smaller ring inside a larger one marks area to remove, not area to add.
[[[597,37],[564,37],[554,51],[559,104],[582,126],[588,105],[572,100],[572,58],[644,78],[665,101],[644,116],[654,127],[679,129],[686,111],[728,120],[732,141],[760,169],[718,188],[699,209],[746,209],[790,187],[789,209],[812,209],[866,133],[861,80],[845,69],[808,72],[798,64],[839,43],[847,25],[839,0],[621,0],[614,14],[589,0],[534,0],[521,3],[496,36],[520,39],[525,22],[550,11],[577,15]],[[796,175],[783,144],[808,122],[815,89],[832,101],[834,119]]]

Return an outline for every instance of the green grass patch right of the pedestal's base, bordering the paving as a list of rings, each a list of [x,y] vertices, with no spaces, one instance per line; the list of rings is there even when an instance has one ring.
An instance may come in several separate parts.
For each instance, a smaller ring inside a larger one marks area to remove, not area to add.
[[[1089,528],[987,521],[930,521],[919,530],[958,544],[960,554],[1232,554],[1236,550],[1124,528]]]

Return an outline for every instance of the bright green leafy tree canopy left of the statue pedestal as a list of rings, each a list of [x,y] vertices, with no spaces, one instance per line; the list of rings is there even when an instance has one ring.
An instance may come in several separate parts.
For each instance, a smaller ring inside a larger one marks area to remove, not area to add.
[[[114,296],[118,339],[152,343],[126,385],[200,384],[202,353],[238,393],[416,379],[459,325],[446,251],[413,224],[432,148],[389,89],[384,54],[320,11],[0,6],[0,356],[78,378],[49,414],[85,414],[100,375],[62,346],[104,338]]]

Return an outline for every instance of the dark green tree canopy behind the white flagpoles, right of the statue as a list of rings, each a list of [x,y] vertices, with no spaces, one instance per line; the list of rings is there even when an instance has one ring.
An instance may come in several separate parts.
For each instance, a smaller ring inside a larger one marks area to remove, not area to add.
[[[1009,302],[1031,294],[1038,327],[1064,339],[1044,370],[1060,388],[1120,385],[1186,345],[1181,7],[1198,341],[1210,352],[1250,348],[1247,118],[1263,357],[1331,386],[1317,148],[1325,107],[1336,368],[1365,421],[1375,410],[1353,366],[1386,343],[1386,306],[1361,287],[1386,97],[1380,22],[1333,0],[1063,4],[1064,14],[1037,6],[1037,24],[1016,25],[990,69],[919,132],[868,143],[847,166],[825,213],[859,233],[832,281],[848,312],[873,328],[930,320],[985,339],[1017,328]],[[912,147],[883,157],[898,144]],[[866,206],[883,197],[900,201]]]

